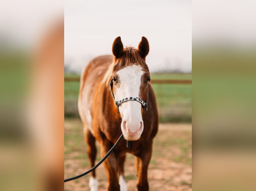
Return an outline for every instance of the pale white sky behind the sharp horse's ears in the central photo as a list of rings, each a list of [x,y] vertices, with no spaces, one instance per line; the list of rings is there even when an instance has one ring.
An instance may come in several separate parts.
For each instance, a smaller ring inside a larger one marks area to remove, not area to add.
[[[124,46],[149,41],[150,71],[191,71],[191,1],[65,1],[65,60],[73,68],[89,59],[112,54],[121,36]]]

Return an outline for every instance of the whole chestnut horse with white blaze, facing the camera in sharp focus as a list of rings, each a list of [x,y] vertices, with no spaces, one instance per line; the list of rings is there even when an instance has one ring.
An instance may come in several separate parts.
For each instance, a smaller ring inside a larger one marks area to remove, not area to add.
[[[113,56],[94,58],[81,73],[78,109],[91,167],[95,165],[96,140],[103,157],[120,135],[124,136],[104,161],[109,191],[127,190],[126,153],[135,157],[138,191],[149,190],[147,169],[158,130],[158,113],[145,61],[148,52],[145,37],[141,38],[138,49],[124,48],[117,37],[112,46]],[[91,191],[98,190],[95,171],[91,173],[89,186]]]

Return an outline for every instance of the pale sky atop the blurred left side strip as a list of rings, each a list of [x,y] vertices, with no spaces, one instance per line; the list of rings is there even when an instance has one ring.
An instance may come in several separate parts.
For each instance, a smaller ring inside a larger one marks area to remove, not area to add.
[[[0,6],[0,38],[23,48],[36,46],[52,22],[63,17],[62,0],[5,0]]]

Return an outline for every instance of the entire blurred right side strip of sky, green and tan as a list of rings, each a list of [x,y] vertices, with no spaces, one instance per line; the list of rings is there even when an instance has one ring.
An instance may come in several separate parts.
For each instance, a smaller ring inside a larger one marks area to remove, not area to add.
[[[256,188],[255,6],[193,1],[195,190]]]

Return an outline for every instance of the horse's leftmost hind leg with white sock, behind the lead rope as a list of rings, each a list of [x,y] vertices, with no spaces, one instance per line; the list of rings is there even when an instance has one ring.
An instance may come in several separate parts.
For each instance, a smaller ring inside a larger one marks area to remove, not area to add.
[[[95,137],[91,133],[91,131],[88,128],[84,128],[84,136],[85,140],[87,142],[87,153],[90,160],[91,168],[95,165],[95,159],[96,159],[96,153],[97,148],[95,145]],[[89,186],[91,188],[91,191],[98,191],[98,180],[96,179],[96,173],[95,170],[92,171],[91,178],[89,181]]]

